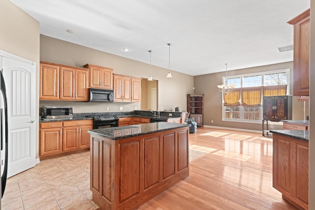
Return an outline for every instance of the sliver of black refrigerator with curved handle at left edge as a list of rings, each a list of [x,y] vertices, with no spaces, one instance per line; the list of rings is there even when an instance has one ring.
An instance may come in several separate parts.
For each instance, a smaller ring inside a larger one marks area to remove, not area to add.
[[[0,135],[1,135],[1,152],[0,152],[0,170],[1,170],[1,182],[0,182],[0,193],[1,199],[4,193],[7,171],[8,171],[8,119],[7,119],[7,101],[5,93],[5,84],[0,71]],[[1,209],[1,200],[0,200]]]

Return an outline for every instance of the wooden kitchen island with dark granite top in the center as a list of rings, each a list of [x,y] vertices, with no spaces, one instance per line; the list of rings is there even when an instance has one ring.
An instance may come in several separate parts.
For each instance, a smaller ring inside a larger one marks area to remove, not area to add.
[[[189,125],[154,122],[88,131],[91,190],[101,210],[136,209],[189,176]]]

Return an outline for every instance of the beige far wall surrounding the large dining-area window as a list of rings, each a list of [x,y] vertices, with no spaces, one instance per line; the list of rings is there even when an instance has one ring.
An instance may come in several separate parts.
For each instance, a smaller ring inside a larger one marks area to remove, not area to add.
[[[273,65],[258,66],[253,68],[239,69],[228,71],[228,76],[249,74],[255,72],[264,72],[280,69],[290,69],[290,84],[293,81],[293,62],[284,62]],[[205,74],[194,77],[194,93],[204,94],[204,125],[221,126],[250,130],[261,130],[261,123],[239,123],[222,121],[222,93],[218,90],[217,85],[222,83],[222,77],[225,72]],[[292,85],[290,86],[290,94],[292,94]],[[294,120],[304,120],[304,102],[297,101],[297,97],[293,97],[293,113]],[[213,123],[211,122],[213,120]],[[269,129],[282,129],[282,122],[270,123]]]

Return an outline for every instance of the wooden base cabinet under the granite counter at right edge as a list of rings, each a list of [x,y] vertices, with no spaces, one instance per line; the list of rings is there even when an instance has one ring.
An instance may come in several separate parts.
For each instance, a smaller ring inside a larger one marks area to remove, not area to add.
[[[308,209],[309,143],[273,134],[273,187],[294,206]]]

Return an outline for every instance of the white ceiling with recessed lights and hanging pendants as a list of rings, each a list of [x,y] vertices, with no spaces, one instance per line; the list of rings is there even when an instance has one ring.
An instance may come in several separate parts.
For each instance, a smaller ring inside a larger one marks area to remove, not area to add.
[[[293,60],[286,22],[310,0],[11,0],[40,33],[171,70],[202,75]],[[75,33],[66,32],[67,29]],[[130,51],[125,52],[123,49]],[[152,68],[154,71],[154,67]]]

